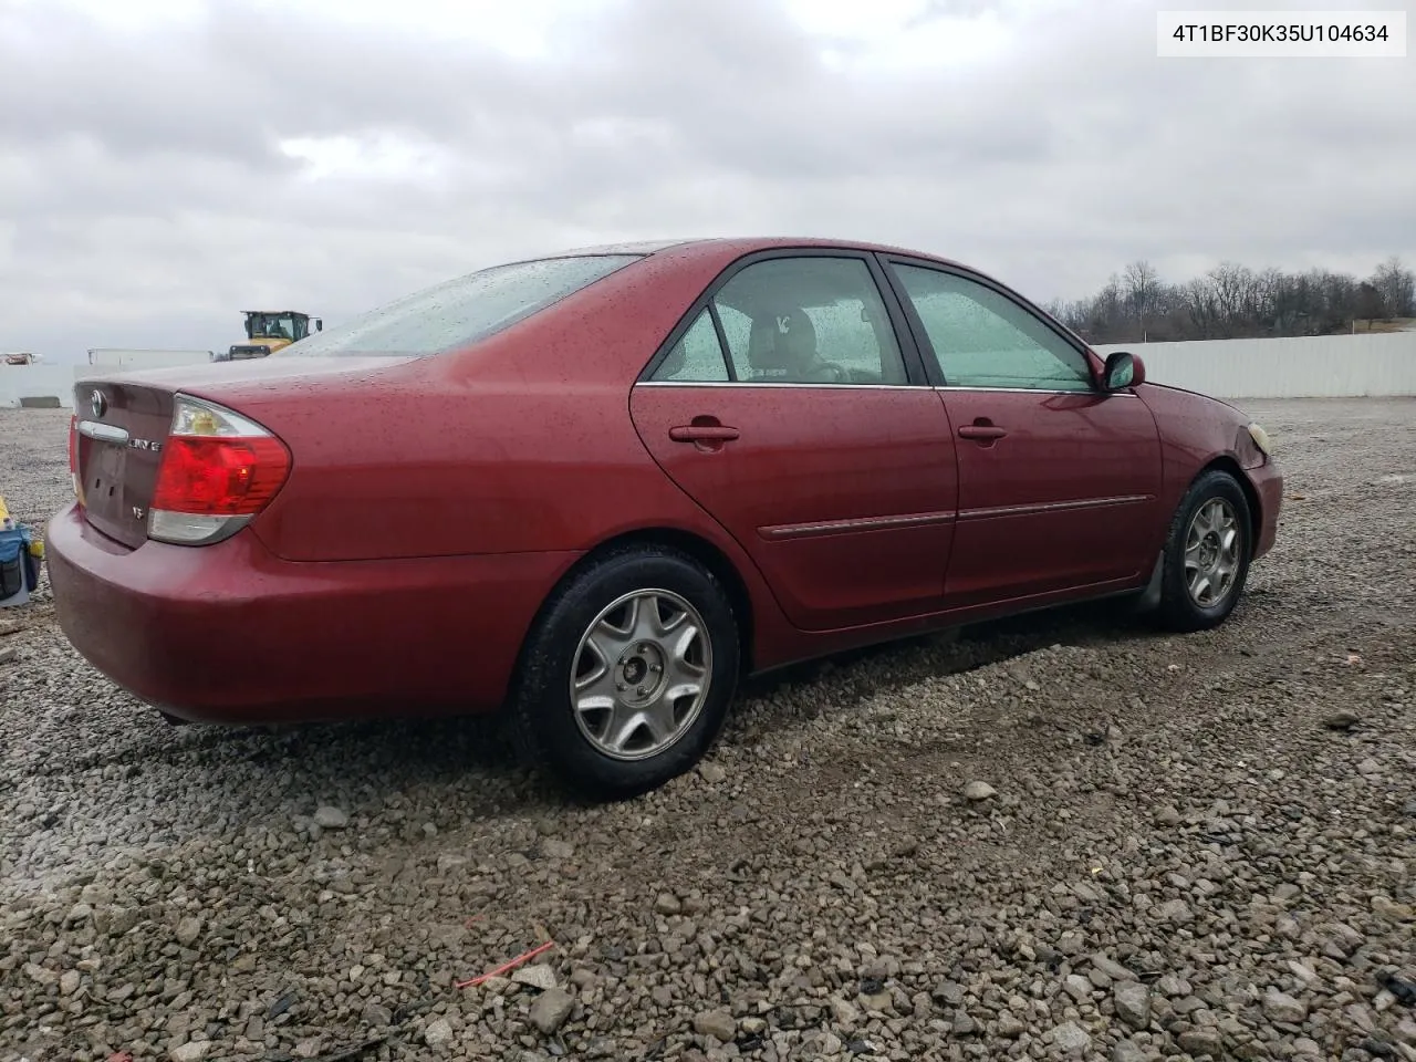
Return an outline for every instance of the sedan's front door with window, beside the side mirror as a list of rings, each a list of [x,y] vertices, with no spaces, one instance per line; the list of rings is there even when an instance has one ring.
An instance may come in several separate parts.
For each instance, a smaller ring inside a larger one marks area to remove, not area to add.
[[[1004,287],[908,259],[888,270],[956,432],[947,603],[1148,575],[1161,450],[1146,404],[1102,391],[1083,348]]]

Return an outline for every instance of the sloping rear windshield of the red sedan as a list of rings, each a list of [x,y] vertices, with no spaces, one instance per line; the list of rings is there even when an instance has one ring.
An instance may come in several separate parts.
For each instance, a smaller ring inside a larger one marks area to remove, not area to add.
[[[641,255],[583,255],[491,266],[292,343],[270,357],[440,354],[484,340]]]

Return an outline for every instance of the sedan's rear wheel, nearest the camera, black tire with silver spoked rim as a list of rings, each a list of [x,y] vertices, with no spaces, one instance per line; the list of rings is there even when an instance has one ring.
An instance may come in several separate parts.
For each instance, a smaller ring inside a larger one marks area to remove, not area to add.
[[[663,786],[722,729],[738,637],[722,583],[691,558],[650,545],[598,558],[527,640],[511,698],[518,750],[590,799]]]

